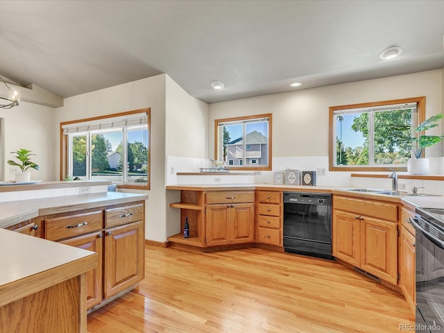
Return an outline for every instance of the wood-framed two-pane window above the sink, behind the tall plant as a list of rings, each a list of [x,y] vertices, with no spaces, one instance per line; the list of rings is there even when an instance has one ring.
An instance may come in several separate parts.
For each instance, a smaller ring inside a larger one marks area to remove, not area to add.
[[[409,141],[393,126],[413,129],[424,119],[425,97],[331,107],[330,170],[407,170]]]

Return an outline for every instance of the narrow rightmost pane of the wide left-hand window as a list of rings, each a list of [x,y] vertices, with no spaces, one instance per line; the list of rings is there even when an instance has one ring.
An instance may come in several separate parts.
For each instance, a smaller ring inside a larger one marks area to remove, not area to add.
[[[128,129],[128,182],[148,182],[148,130]]]

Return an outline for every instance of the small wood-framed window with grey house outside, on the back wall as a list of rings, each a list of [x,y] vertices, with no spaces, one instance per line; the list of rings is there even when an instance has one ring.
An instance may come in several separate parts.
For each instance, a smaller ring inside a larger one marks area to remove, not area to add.
[[[216,119],[214,145],[232,170],[271,170],[271,114]]]

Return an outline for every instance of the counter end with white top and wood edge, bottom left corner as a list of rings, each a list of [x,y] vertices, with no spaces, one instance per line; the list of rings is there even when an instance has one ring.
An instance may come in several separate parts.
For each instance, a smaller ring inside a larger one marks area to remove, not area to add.
[[[86,332],[97,254],[0,229],[0,332]]]

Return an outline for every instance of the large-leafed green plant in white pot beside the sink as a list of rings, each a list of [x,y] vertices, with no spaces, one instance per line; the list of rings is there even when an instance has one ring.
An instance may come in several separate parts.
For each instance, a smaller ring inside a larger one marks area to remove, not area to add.
[[[443,135],[425,135],[425,131],[438,126],[438,120],[444,117],[444,114],[425,119],[418,127],[411,130],[409,125],[391,126],[393,135],[405,142],[411,150],[412,157],[407,161],[407,171],[412,175],[427,175],[429,173],[429,159],[423,157],[425,148],[433,146],[444,139]],[[406,134],[407,133],[407,134]],[[410,134],[411,133],[411,134]]]

